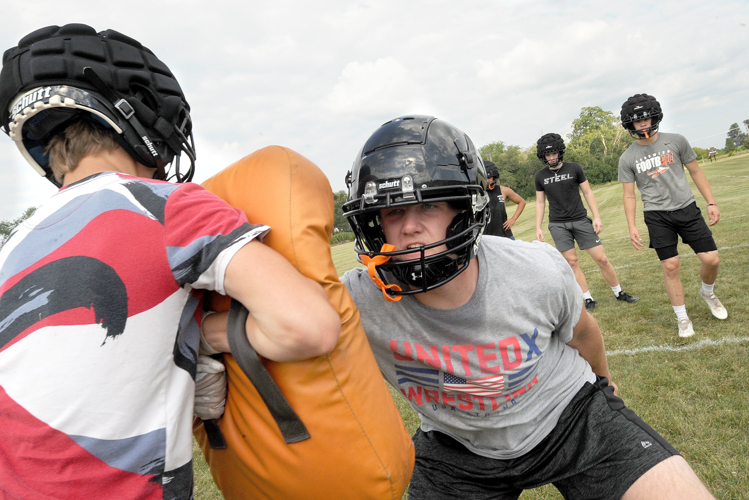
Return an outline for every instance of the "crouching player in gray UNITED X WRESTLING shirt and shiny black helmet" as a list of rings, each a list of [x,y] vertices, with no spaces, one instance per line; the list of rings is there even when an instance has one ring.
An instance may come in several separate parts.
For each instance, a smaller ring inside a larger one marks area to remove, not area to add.
[[[344,212],[366,269],[342,279],[380,370],[422,421],[410,499],[514,500],[548,483],[565,498],[712,499],[616,396],[560,253],[483,235],[487,180],[467,135],[395,118],[350,178]]]

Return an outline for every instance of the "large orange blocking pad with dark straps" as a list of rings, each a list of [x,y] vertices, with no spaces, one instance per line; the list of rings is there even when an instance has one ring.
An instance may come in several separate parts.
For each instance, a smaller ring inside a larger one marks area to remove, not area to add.
[[[284,147],[255,151],[203,183],[269,225],[263,243],[318,281],[341,316],[341,335],[327,356],[300,362],[261,359],[310,439],[286,444],[276,421],[231,355],[226,409],[220,422],[228,447],[208,447],[203,424],[195,437],[227,500],[399,500],[413,469],[413,443],[366,339],[359,311],[330,256],[333,193],[322,171]],[[209,308],[229,298],[212,293]]]

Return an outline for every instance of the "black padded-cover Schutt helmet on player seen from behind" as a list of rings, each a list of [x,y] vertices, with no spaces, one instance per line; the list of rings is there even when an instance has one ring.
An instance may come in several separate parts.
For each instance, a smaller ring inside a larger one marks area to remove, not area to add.
[[[0,118],[38,174],[60,186],[45,147],[79,120],[111,129],[136,162],[157,168],[157,179],[187,182],[195,171],[189,105],[177,80],[153,52],[114,30],[47,26],[3,55]],[[180,171],[181,153],[189,158]],[[168,165],[173,172],[167,174]]]

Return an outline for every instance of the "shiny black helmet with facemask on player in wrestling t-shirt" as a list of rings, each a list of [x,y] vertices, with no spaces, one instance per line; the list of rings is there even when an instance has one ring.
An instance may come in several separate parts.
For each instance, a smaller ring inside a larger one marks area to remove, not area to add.
[[[389,301],[446,284],[476,255],[488,220],[486,171],[473,142],[457,127],[425,115],[401,116],[383,124],[360,150],[346,184],[343,215],[357,237],[354,249]],[[446,238],[392,251],[380,225],[380,210],[440,201],[460,210]],[[445,251],[425,254],[442,245],[447,246]],[[390,258],[414,251],[420,252],[416,259]]]

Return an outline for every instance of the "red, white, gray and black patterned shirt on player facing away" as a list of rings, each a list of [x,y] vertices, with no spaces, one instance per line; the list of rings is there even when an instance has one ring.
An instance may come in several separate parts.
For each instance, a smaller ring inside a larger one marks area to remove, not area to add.
[[[192,499],[198,293],[267,226],[193,183],[60,189],[0,251],[0,493]]]

